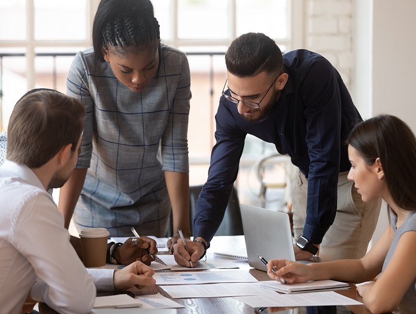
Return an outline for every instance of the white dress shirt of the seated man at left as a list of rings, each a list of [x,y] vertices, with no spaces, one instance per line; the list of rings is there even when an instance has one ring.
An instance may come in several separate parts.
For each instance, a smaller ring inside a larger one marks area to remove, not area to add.
[[[88,274],[62,214],[31,169],[6,160],[0,167],[0,200],[2,312],[20,313],[30,291],[34,300],[61,313],[88,313],[96,289],[114,290],[114,270]]]

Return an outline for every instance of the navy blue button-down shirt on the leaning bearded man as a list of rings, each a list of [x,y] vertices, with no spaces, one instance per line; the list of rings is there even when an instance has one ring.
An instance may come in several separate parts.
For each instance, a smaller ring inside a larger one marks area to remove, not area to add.
[[[248,122],[223,96],[216,114],[216,144],[207,182],[193,220],[194,237],[211,241],[237,177],[247,134],[273,143],[308,178],[303,235],[320,244],[333,223],[339,172],[351,164],[345,140],[361,116],[338,71],[324,57],[296,50],[283,56],[288,82],[274,109],[260,122]]]

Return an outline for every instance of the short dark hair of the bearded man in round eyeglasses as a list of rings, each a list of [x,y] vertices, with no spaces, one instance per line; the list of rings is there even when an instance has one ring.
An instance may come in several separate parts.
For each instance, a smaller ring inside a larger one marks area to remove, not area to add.
[[[263,33],[247,33],[236,38],[225,54],[227,70],[237,77],[255,76],[283,70],[283,56],[274,41]]]

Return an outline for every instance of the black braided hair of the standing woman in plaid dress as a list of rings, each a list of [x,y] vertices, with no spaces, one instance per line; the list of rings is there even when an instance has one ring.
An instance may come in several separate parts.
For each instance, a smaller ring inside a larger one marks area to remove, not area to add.
[[[92,43],[98,61],[101,47],[112,46],[120,54],[129,49],[160,45],[159,23],[149,0],[101,0],[92,26]]]

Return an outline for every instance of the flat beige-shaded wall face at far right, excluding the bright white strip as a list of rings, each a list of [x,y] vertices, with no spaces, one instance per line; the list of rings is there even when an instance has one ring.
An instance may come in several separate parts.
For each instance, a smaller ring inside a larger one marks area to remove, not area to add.
[[[373,1],[372,113],[397,115],[413,132],[416,132],[415,29],[416,1]]]

